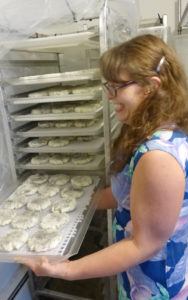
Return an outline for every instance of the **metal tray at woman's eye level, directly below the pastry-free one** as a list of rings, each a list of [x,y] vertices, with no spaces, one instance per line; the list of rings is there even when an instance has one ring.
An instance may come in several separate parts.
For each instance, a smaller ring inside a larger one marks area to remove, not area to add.
[[[63,96],[43,96],[40,98],[32,97],[11,97],[7,101],[11,104],[38,104],[38,103],[54,103],[54,102],[72,102],[84,100],[96,100],[101,96],[101,91],[83,93],[83,94],[69,94]]]

